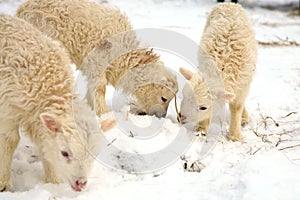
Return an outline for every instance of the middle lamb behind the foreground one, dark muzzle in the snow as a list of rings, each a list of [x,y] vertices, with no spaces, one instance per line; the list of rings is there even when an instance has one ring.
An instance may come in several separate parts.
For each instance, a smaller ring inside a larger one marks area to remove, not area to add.
[[[97,115],[108,111],[108,83],[131,95],[131,113],[166,115],[178,91],[176,76],[151,49],[139,48],[131,23],[119,9],[87,0],[29,0],[17,16],[64,45],[87,77],[86,98]]]

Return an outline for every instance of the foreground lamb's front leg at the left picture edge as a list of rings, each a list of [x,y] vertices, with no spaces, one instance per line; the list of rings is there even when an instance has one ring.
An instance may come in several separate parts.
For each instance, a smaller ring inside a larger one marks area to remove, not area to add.
[[[20,136],[18,126],[13,122],[0,122],[0,192],[10,190],[10,169],[14,151]]]

